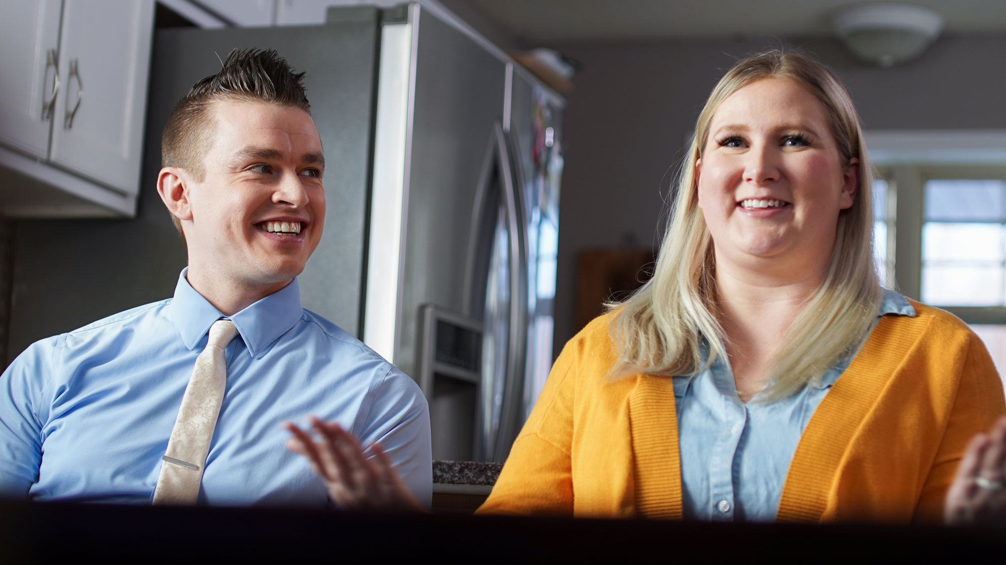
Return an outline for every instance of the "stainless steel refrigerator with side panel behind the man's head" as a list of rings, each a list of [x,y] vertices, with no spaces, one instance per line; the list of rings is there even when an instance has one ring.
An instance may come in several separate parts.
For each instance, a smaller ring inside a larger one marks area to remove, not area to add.
[[[152,117],[235,47],[307,72],[328,205],[305,308],[420,383],[434,458],[504,460],[552,362],[564,101],[404,4],[330,8],[320,26],[160,30]]]

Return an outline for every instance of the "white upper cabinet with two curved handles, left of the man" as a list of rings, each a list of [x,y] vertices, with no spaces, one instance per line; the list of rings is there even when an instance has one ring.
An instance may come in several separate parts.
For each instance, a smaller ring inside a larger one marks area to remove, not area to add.
[[[135,215],[154,1],[0,5],[0,213]]]

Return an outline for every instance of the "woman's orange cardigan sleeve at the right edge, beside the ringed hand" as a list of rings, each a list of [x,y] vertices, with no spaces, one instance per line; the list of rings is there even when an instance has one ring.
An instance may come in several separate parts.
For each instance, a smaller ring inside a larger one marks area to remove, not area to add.
[[[954,370],[954,368],[947,368]],[[976,434],[988,431],[1006,414],[1003,385],[981,339],[971,334],[957,394],[929,477],[915,507],[914,521],[943,522],[944,501],[964,451]]]

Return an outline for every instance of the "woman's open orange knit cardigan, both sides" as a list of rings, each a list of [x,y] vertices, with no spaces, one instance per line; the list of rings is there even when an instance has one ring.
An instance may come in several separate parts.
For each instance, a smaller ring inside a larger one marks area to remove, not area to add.
[[[912,302],[884,316],[800,438],[779,522],[942,521],[969,440],[1006,413],[985,346]],[[613,315],[566,344],[482,514],[681,518],[674,387],[605,378]]]

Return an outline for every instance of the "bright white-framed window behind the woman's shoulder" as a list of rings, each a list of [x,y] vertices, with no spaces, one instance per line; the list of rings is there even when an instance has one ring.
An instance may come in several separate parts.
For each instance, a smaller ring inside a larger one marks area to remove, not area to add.
[[[881,280],[967,322],[1006,376],[1006,165],[878,171],[873,232]]]

